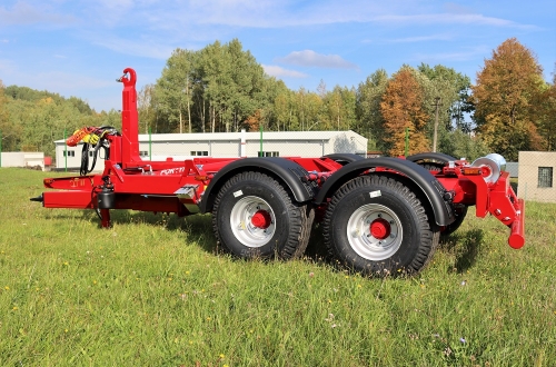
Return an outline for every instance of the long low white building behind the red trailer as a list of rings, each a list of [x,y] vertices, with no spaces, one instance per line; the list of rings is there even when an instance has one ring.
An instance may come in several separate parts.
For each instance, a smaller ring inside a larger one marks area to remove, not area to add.
[[[67,147],[64,140],[54,143],[56,168],[81,166],[82,145]],[[367,139],[351,130],[269,131],[262,133],[262,145],[260,132],[157,133],[151,135],[150,142],[148,135],[139,135],[139,153],[146,160],[257,157],[260,151],[265,157],[321,157],[340,152],[365,157]],[[103,159],[97,159],[95,171],[103,168]]]

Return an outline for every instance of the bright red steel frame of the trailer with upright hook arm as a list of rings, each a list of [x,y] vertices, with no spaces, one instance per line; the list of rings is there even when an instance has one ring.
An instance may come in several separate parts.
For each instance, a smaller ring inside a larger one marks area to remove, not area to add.
[[[107,137],[110,153],[105,161],[101,175],[88,175],[66,178],[47,178],[46,188],[59,191],[46,191],[42,197],[46,208],[96,209],[97,196],[106,187],[107,180],[118,194],[115,209],[135,209],[155,212],[175,212],[187,216],[195,210],[203,190],[216,172],[230,161],[240,159],[193,158],[173,161],[143,160],[139,156],[137,76],[133,69],[123,70],[119,79],[122,91],[122,131],[121,136]],[[311,172],[307,179],[327,177],[342,166],[326,158],[287,158]],[[383,170],[380,168],[377,169]],[[438,181],[451,192],[453,202],[475,205],[476,216],[492,214],[510,228],[508,244],[520,248],[525,244],[523,199],[518,199],[509,186],[507,172],[502,172],[496,182],[486,182],[481,171],[469,169],[466,161],[455,161],[450,167],[435,173]],[[191,195],[180,197],[177,190],[190,186]],[[109,209],[100,209],[102,227],[110,226]]]

